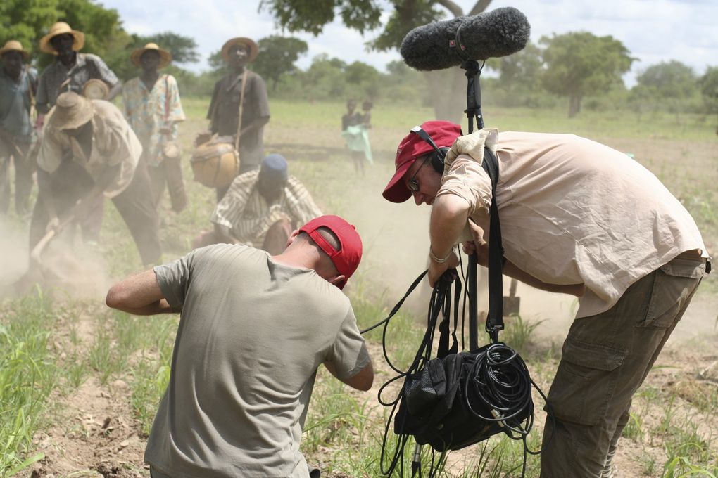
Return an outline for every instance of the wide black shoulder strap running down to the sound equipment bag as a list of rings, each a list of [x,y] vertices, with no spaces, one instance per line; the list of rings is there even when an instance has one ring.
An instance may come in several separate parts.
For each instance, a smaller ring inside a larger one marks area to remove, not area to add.
[[[503,244],[501,223],[498,219],[496,184],[498,183],[498,158],[489,148],[484,148],[481,163],[491,178],[491,208],[489,210],[489,312],[486,317],[486,332],[493,343],[498,342],[499,330],[503,330]]]

